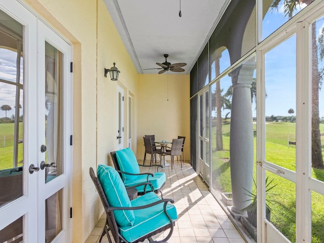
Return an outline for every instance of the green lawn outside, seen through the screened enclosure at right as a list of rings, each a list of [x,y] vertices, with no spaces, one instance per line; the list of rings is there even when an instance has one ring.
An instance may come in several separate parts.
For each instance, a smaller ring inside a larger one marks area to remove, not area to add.
[[[290,141],[296,141],[295,123],[267,123],[266,125],[266,160],[296,171],[296,146],[288,146],[288,135]],[[231,191],[230,163],[229,163],[229,121],[223,124],[223,145],[222,151],[213,150],[213,188],[221,192]],[[256,127],[254,126],[254,130]],[[324,124],[320,125],[324,131]],[[215,138],[213,131],[213,138]],[[255,134],[256,135],[256,134]],[[321,138],[324,144],[324,137]],[[215,148],[215,139],[212,139],[212,146]],[[256,151],[256,136],[254,139],[254,150]],[[254,156],[256,161],[256,152]],[[254,170],[256,166],[254,165]],[[256,171],[254,171],[254,176]],[[275,200],[279,203],[271,205],[271,222],[292,242],[296,242],[296,187],[284,178],[273,173],[266,173],[269,179],[274,179],[277,184],[271,193],[277,194]],[[312,177],[324,181],[324,170],[312,169]],[[254,188],[255,190],[255,188]],[[324,242],[324,196],[312,192],[312,242]]]

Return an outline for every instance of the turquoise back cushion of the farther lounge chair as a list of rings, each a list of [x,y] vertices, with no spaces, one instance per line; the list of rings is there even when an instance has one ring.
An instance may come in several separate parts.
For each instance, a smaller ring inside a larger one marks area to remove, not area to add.
[[[137,159],[135,157],[135,154],[132,149],[130,148],[123,148],[116,151],[116,157],[118,161],[118,165],[120,168],[120,171],[133,173],[133,174],[139,174],[140,168],[137,164]],[[132,175],[126,175],[121,173],[121,178],[123,178],[123,181],[133,181],[138,176],[132,176]]]

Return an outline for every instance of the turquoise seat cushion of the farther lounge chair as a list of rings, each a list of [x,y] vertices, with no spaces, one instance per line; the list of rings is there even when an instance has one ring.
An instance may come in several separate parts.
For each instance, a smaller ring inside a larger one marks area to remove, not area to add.
[[[150,183],[152,183],[153,189],[154,191],[161,188],[162,185],[166,182],[166,173],[164,172],[156,172],[153,173],[153,177],[149,176],[148,180]],[[139,183],[145,182],[147,178],[147,175],[140,175],[138,176],[135,180],[126,180],[124,182],[125,186],[135,186]],[[138,190],[138,192],[143,192],[144,191],[144,185],[142,186],[138,186],[136,187],[136,189]],[[146,192],[151,191],[151,187],[150,186],[146,186]]]

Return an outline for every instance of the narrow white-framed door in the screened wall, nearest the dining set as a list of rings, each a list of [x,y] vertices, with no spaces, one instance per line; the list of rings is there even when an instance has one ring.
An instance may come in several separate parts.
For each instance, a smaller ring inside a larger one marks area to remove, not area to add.
[[[199,117],[199,175],[204,182],[210,183],[210,109],[209,89],[198,95]]]

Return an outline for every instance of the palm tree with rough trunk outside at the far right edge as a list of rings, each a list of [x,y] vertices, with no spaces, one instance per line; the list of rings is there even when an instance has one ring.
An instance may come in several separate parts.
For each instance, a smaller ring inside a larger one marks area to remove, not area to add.
[[[294,11],[301,4],[309,5],[313,0],[284,0],[284,12],[285,16],[289,18],[293,17]],[[270,6],[271,10],[278,10],[280,0],[273,0]],[[321,84],[321,73],[318,71],[318,49],[316,43],[316,22],[312,23],[311,28],[312,36],[312,167],[324,169],[323,155],[320,143],[320,131],[319,131],[319,96],[318,91]],[[320,36],[319,36],[320,38]],[[322,43],[319,39],[319,44]],[[324,52],[324,46],[320,46],[320,53]]]

